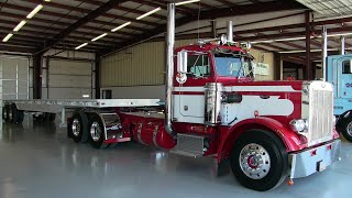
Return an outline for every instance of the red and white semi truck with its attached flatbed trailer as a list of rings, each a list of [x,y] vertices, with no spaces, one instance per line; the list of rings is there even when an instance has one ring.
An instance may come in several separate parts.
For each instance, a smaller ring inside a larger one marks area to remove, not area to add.
[[[175,4],[169,3],[165,103],[12,100],[6,101],[7,117],[16,122],[23,111],[64,114],[65,108],[76,108],[67,124],[75,142],[101,148],[133,140],[180,155],[211,156],[219,167],[231,167],[240,184],[261,191],[337,162],[341,142],[333,86],[254,81],[254,59],[232,45],[232,25],[228,38],[224,45],[202,42],[175,50]]]

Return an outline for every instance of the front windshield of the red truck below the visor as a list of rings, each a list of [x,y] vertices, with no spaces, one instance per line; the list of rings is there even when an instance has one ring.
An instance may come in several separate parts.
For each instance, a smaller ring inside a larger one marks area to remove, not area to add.
[[[216,69],[223,77],[253,77],[252,64],[248,57],[233,54],[216,54]]]

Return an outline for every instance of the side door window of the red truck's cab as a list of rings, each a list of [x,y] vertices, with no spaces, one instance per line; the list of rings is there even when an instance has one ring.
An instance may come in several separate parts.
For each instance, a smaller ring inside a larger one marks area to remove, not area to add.
[[[210,76],[209,56],[207,54],[188,55],[187,62],[187,72],[191,76]]]

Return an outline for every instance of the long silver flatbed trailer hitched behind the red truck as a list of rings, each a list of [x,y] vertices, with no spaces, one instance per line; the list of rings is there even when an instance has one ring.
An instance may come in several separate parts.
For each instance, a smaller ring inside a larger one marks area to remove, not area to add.
[[[4,100],[3,119],[8,122],[23,121],[23,113],[47,113],[54,120],[58,114],[61,127],[67,127],[67,110],[106,111],[109,108],[127,107],[157,107],[164,102],[160,99],[33,99],[33,100]],[[14,118],[15,117],[15,118]],[[48,119],[51,120],[51,119]]]

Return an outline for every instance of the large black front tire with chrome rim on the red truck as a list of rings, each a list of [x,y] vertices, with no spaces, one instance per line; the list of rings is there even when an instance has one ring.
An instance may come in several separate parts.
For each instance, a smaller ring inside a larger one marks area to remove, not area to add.
[[[242,186],[265,191],[279,186],[287,177],[288,154],[283,142],[272,132],[249,130],[235,141],[230,165]]]

